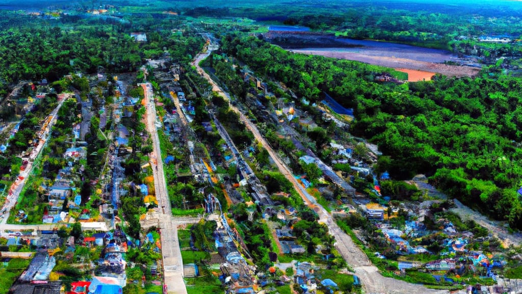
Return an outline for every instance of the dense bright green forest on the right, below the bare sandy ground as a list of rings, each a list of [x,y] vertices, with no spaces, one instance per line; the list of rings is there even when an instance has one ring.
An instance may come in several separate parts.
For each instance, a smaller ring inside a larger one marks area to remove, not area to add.
[[[522,98],[509,76],[375,83],[383,67],[284,51],[255,37],[223,39],[222,49],[260,75],[312,101],[328,92],[357,121],[351,132],[375,142],[376,172],[424,173],[450,197],[522,228]]]

